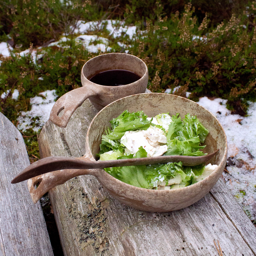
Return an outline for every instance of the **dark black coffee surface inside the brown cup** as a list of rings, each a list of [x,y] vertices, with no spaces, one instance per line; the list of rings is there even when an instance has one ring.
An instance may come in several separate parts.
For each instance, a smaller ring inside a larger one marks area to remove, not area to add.
[[[100,72],[95,76],[92,76],[89,80],[95,84],[105,86],[120,86],[125,84],[131,84],[141,77],[132,71],[124,69],[112,69]]]

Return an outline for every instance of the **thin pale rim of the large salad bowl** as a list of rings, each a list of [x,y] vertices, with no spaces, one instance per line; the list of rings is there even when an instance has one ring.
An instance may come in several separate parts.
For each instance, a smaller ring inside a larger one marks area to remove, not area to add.
[[[167,95],[172,95],[172,96],[174,96],[174,97],[176,97],[176,98],[182,98],[182,99],[185,99],[185,100],[187,100],[187,101],[193,102],[193,104],[198,105],[200,108],[204,108],[203,106],[201,106],[200,104],[198,104],[197,102],[195,102],[195,101],[193,101],[193,100],[189,100],[189,99],[187,99],[187,98],[184,98],[184,97],[181,97],[181,96],[178,96],[178,95],[174,95],[174,94],[170,94],[170,93],[150,92],[150,93],[138,93],[138,94],[129,95],[129,96],[126,96],[126,97],[123,97],[123,98],[120,98],[120,99],[118,99],[118,100],[115,100],[115,101],[111,102],[111,103],[108,104],[106,107],[102,108],[102,109],[96,114],[96,116],[94,116],[94,118],[92,119],[92,122],[90,123],[90,125],[89,125],[89,127],[88,127],[87,134],[86,134],[86,140],[87,140],[87,138],[88,138],[88,134],[89,134],[89,131],[90,131],[90,128],[91,128],[91,125],[92,125],[94,119],[97,118],[98,114],[99,114],[100,112],[104,111],[105,108],[108,108],[110,105],[115,104],[116,102],[118,102],[118,101],[120,101],[120,100],[123,100],[123,99],[125,99],[125,98],[134,97],[134,96],[136,96],[136,95],[138,96],[138,95],[148,95],[148,94],[151,94],[151,95],[166,95],[166,96],[167,96]],[[164,97],[165,97],[165,96],[164,96]],[[167,96],[167,97],[168,97],[168,96]],[[125,183],[125,182],[123,182],[123,181],[121,181],[121,180],[116,179],[115,177],[113,177],[112,175],[110,175],[108,172],[106,172],[104,169],[97,169],[97,172],[95,173],[95,177],[98,179],[99,175],[102,175],[102,172],[103,172],[103,175],[106,175],[106,174],[107,174],[107,176],[110,176],[110,177],[109,177],[110,179],[113,179],[116,183],[119,183],[120,185],[128,186],[128,188],[132,188],[132,189],[136,189],[136,190],[142,190],[142,191],[144,191],[144,192],[146,192],[146,193],[154,193],[154,194],[180,193],[180,191],[186,191],[186,190],[188,191],[188,190],[194,189],[194,188],[196,188],[196,187],[200,187],[203,182],[206,183],[209,179],[212,178],[212,176],[217,175],[217,174],[220,172],[220,166],[223,164],[224,161],[225,161],[225,162],[227,161],[227,153],[228,153],[227,136],[226,136],[226,133],[225,133],[225,131],[224,131],[223,126],[220,124],[220,121],[217,119],[216,116],[213,115],[212,112],[210,112],[210,111],[209,111],[208,109],[206,109],[206,108],[204,108],[204,109],[205,109],[207,112],[209,112],[209,113],[213,116],[213,118],[217,121],[217,123],[220,125],[221,130],[222,130],[222,132],[223,132],[223,134],[224,134],[224,138],[225,138],[225,150],[224,150],[224,154],[223,154],[223,156],[222,156],[222,158],[221,158],[221,160],[220,160],[220,163],[218,164],[218,167],[217,167],[210,175],[208,175],[208,176],[205,177],[204,179],[202,179],[202,180],[200,180],[200,181],[198,181],[198,182],[196,182],[196,183],[194,183],[194,184],[191,184],[191,185],[189,185],[189,186],[187,186],[187,187],[175,188],[175,189],[166,189],[166,190],[159,190],[159,189],[140,188],[140,187],[136,187],[136,186],[130,185],[130,184],[128,184],[128,183]],[[86,141],[86,143],[88,143],[88,141]],[[99,170],[99,171],[98,171],[98,170]],[[218,175],[218,176],[221,176],[221,174]],[[100,178],[99,178],[99,179],[100,179]],[[218,178],[218,179],[219,179],[219,178]],[[213,187],[215,184],[216,184],[216,183],[214,183],[214,184],[212,185],[212,187]]]

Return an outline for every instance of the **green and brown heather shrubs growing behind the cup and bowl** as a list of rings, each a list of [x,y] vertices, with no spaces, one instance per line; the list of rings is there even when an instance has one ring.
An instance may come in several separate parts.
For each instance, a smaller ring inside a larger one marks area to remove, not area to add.
[[[61,96],[81,86],[83,64],[102,52],[90,53],[77,43],[71,26],[78,20],[113,18],[136,25],[137,35],[114,38],[106,27],[90,33],[108,38],[111,52],[129,50],[144,60],[151,91],[163,92],[180,86],[175,94],[184,96],[185,92],[192,92],[192,100],[202,96],[228,99],[233,113],[245,115],[247,100],[255,101],[256,96],[256,3],[225,0],[223,10],[214,1],[191,3],[1,1],[0,39],[9,40],[14,51],[7,58],[0,55],[0,95],[7,92],[0,99],[0,111],[16,125],[20,111],[28,111],[30,98],[39,92],[55,89]],[[50,40],[59,40],[63,33],[68,38],[66,42],[47,47]],[[28,47],[29,54],[20,56],[19,52]],[[12,99],[15,89],[19,91],[17,100]],[[24,136],[34,136],[24,137],[30,156],[38,157],[30,147],[35,146],[36,134],[32,130],[28,133]]]

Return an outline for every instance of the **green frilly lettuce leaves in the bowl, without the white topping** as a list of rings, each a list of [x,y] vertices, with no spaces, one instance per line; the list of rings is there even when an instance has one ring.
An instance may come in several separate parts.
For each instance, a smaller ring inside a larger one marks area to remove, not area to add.
[[[161,116],[158,115],[158,117]],[[142,147],[135,155],[124,155],[124,145],[120,144],[120,139],[126,131],[147,130],[150,125],[156,126],[151,121],[152,119],[148,120],[142,111],[129,113],[127,110],[110,121],[112,130],[108,128],[105,135],[102,135],[100,160],[147,157],[147,152]],[[176,114],[172,116],[172,122],[168,127],[166,136],[168,150],[164,155],[202,156],[204,153],[201,150],[205,146],[201,146],[201,143],[204,143],[207,134],[208,130],[204,128],[196,116],[187,114],[181,120],[179,114]],[[181,177],[180,187],[194,184],[197,182],[196,178],[203,173],[204,166],[188,167],[179,162],[112,167],[105,168],[105,171],[127,184],[140,188],[156,189],[159,184],[168,185],[168,181],[176,175]]]

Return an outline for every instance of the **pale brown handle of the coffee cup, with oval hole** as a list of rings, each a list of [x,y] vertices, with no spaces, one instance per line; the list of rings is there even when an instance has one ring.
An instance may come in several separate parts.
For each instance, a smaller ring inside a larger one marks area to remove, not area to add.
[[[80,107],[84,100],[98,94],[96,88],[79,87],[62,95],[53,105],[50,120],[53,124],[65,128],[76,108]],[[62,116],[59,116],[63,112]]]

